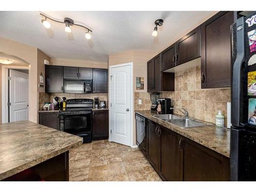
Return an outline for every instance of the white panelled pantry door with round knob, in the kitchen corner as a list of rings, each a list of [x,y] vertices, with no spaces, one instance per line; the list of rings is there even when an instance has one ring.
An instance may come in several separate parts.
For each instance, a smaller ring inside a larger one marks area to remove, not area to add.
[[[131,146],[132,66],[111,68],[111,141]]]

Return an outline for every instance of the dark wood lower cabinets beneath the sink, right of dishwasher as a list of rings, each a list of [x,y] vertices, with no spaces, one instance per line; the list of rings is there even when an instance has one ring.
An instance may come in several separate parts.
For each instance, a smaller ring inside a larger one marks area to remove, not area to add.
[[[164,181],[229,181],[229,158],[148,119],[147,159]]]

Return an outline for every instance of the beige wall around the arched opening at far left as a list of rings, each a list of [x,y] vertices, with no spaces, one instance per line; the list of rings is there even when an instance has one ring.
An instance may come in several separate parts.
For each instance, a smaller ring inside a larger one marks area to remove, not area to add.
[[[29,65],[29,120],[37,122],[37,48],[0,37],[0,52],[22,58]]]

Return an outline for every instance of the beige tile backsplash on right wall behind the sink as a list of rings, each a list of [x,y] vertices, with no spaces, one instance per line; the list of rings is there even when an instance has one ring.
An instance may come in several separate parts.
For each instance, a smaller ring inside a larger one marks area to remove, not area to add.
[[[230,101],[230,88],[201,89],[200,66],[175,73],[175,91],[161,92],[160,97],[172,98],[174,106],[185,108],[189,117],[215,123],[218,110],[227,118],[227,102]],[[138,99],[142,104],[138,104]],[[148,93],[135,92],[135,110],[150,110],[151,100]],[[177,110],[175,114],[181,115]]]

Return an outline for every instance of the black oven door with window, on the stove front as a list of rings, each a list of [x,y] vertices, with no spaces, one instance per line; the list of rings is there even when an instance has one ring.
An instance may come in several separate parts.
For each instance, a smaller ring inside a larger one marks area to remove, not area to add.
[[[88,114],[63,115],[63,130],[71,134],[92,132],[91,112]]]

